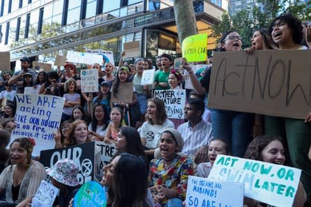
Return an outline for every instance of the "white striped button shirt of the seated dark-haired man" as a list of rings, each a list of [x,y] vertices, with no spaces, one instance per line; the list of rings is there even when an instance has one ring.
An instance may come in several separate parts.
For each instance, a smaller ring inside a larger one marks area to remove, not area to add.
[[[185,155],[196,155],[201,146],[207,146],[209,141],[214,138],[211,124],[203,119],[194,128],[190,127],[188,121],[180,125],[177,130],[184,139],[182,153]]]

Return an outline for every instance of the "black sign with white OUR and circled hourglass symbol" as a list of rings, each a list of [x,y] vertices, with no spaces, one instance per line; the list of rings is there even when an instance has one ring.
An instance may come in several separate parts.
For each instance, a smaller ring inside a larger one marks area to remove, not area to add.
[[[93,163],[95,153],[98,154],[99,151],[95,148],[95,142],[92,141],[86,144],[68,146],[66,148],[41,150],[39,161],[45,168],[51,168],[59,159],[72,159],[80,168],[77,175],[79,184],[84,184],[94,179],[95,166]]]

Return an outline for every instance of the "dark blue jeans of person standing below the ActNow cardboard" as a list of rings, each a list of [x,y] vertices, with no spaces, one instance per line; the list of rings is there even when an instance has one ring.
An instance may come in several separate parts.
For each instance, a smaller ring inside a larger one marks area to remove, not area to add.
[[[232,155],[243,157],[252,137],[254,114],[213,109],[211,124],[214,137],[227,140],[232,146]]]

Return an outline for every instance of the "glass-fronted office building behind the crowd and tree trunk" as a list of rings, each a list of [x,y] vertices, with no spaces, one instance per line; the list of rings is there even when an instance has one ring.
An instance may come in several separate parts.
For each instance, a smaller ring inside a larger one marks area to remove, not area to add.
[[[207,0],[195,0],[194,10],[199,32],[208,34],[225,11]],[[112,50],[119,61],[124,43],[133,41],[141,57],[181,53],[173,0],[0,0],[0,31],[0,51],[10,51],[12,62],[54,61],[86,49]],[[208,42],[214,49],[215,40]]]

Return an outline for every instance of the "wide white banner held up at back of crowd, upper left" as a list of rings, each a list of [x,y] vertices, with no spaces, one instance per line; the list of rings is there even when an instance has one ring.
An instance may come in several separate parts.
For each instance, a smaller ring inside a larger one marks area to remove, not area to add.
[[[72,63],[84,63],[84,64],[93,64],[93,63],[100,63],[102,64],[102,56],[93,54],[93,53],[86,53],[86,52],[75,52],[69,50],[67,52],[66,59],[68,62]]]

